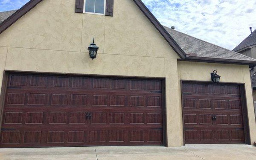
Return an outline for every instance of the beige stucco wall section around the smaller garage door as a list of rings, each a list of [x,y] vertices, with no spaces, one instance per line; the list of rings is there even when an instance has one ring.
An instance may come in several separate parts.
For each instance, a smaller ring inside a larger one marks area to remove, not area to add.
[[[253,94],[252,94],[249,67],[245,65],[234,65],[234,64],[215,64],[215,63],[178,61],[178,79],[179,80],[211,81],[210,73],[213,70],[218,71],[218,75],[221,76],[221,82],[235,82],[235,83],[245,84],[248,120],[249,120],[249,127],[250,127],[250,138],[251,138],[251,143],[253,144],[253,142],[256,141],[256,121],[255,121],[255,115],[254,115]],[[179,91],[180,91],[180,85],[179,85]],[[180,95],[179,99],[181,99],[181,94],[179,95]],[[181,105],[181,102],[180,102],[180,105]],[[180,114],[181,112],[182,111],[180,110]],[[181,136],[183,135],[181,134]]]

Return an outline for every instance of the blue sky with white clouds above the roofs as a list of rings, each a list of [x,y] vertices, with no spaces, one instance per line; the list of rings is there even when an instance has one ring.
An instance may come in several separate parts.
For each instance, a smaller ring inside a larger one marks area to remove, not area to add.
[[[0,0],[0,12],[28,1]],[[256,0],[142,1],[161,24],[231,50],[256,29]]]

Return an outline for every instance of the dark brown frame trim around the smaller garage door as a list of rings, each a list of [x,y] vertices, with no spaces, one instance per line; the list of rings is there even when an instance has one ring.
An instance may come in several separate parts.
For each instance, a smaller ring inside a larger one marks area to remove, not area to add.
[[[206,84],[214,84],[212,81],[194,81],[194,80],[180,80],[180,94],[181,94],[181,109],[182,109],[182,125],[183,125],[183,145],[185,143],[185,123],[184,123],[184,113],[183,113],[183,83],[186,82],[195,82],[195,83],[206,83]],[[244,137],[245,143],[251,145],[250,142],[250,128],[249,128],[249,119],[248,119],[248,111],[247,111],[247,100],[246,100],[246,93],[245,93],[245,83],[234,83],[234,82],[219,82],[219,84],[236,84],[240,86],[241,92],[241,108],[243,114],[243,122],[244,122]]]

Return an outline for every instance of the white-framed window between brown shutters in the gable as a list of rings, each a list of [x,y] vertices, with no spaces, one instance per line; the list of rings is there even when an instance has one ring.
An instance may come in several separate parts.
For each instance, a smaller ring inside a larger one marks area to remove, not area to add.
[[[106,0],[85,0],[85,13],[105,15]]]

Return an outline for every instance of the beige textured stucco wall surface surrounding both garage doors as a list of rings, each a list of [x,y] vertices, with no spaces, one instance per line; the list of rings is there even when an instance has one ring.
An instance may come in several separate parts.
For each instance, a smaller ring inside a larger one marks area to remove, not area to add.
[[[251,111],[247,66],[177,62],[179,56],[132,0],[115,0],[113,17],[74,10],[75,0],[43,0],[0,34],[0,82],[3,70],[166,78],[169,147],[183,145],[180,79],[209,81],[213,69],[220,75],[236,70],[221,80],[246,83]],[[93,61],[87,51],[92,38],[99,47]],[[256,140],[252,116],[250,127]]]

